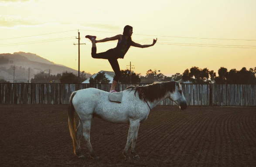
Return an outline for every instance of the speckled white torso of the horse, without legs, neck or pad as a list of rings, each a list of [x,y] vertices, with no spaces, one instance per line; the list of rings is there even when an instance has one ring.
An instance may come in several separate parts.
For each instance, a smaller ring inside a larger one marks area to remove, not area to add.
[[[134,116],[147,117],[148,112],[141,111],[137,98],[133,92],[123,91],[121,103],[110,102],[109,92],[96,88],[86,88],[79,90],[73,98],[79,115],[94,115],[107,122],[129,123],[129,119]]]

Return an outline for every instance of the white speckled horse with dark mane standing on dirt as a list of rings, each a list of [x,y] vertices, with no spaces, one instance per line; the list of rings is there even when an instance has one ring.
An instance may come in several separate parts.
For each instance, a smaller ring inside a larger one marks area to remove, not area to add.
[[[123,91],[121,103],[110,102],[109,92],[96,88],[86,88],[73,92],[68,106],[68,125],[73,139],[74,154],[81,154],[80,139],[83,135],[93,159],[99,159],[90,143],[91,122],[94,116],[112,123],[130,124],[127,143],[123,150],[125,160],[130,160],[128,149],[133,158],[140,158],[135,152],[135,144],[138,136],[140,122],[147,119],[151,110],[165,98],[169,98],[180,106],[181,110],[187,108],[180,81],[154,82],[146,86],[130,86]],[[79,125],[76,129],[75,111],[79,117]]]

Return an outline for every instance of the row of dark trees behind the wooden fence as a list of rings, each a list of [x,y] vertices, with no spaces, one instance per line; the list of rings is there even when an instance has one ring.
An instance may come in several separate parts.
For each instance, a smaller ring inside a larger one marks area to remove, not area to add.
[[[3,69],[2,69],[3,70]],[[88,79],[85,75],[85,71],[80,73],[80,82],[84,82]],[[121,70],[121,77],[119,83],[153,83],[153,82],[165,82],[183,79],[184,82],[202,84],[202,83],[217,83],[217,84],[256,84],[256,67],[247,70],[243,67],[241,70],[231,69],[228,71],[225,67],[218,69],[218,76],[213,70],[208,68],[199,69],[198,67],[191,67],[186,69],[182,74],[176,73],[171,76],[165,76],[162,73],[157,73],[149,69],[145,76],[140,73],[130,72],[130,70]],[[0,82],[7,82],[4,79],[0,79]],[[106,78],[105,73],[98,73],[94,78],[90,77],[90,83],[109,83],[110,80]],[[49,75],[45,72],[39,72],[31,79],[31,83],[78,83],[78,76],[73,72],[62,72],[57,75]]]

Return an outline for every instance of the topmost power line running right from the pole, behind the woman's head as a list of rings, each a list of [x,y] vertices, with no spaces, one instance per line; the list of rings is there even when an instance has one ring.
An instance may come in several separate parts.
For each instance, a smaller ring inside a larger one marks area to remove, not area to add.
[[[94,31],[87,29],[80,29],[81,31],[92,31],[92,32],[100,32],[100,33],[114,33],[114,32],[106,32],[106,31]],[[115,33],[119,34],[119,33]],[[147,34],[134,34],[139,36],[159,36],[159,35],[147,35]],[[184,37],[184,36],[160,36],[160,37],[171,37],[171,38],[190,38],[190,39],[218,39],[218,40],[244,40],[244,41],[256,41],[256,39],[225,39],[225,38],[199,38],[199,37]]]

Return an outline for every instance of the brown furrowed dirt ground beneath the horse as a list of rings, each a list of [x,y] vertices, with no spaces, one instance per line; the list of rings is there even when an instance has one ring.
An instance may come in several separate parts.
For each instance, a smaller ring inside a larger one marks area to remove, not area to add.
[[[92,160],[78,159],[67,105],[0,105],[0,167],[255,167],[256,107],[157,106],[140,124],[140,160],[125,162],[128,124],[94,118]]]

